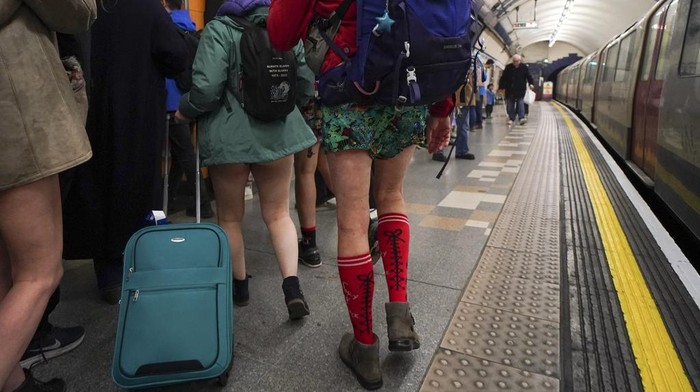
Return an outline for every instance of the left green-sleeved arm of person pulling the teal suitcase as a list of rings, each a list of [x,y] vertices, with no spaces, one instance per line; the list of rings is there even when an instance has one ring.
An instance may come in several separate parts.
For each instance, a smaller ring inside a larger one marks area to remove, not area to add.
[[[216,20],[207,23],[192,64],[192,89],[180,99],[182,115],[196,118],[221,105],[235,53],[229,29]]]

